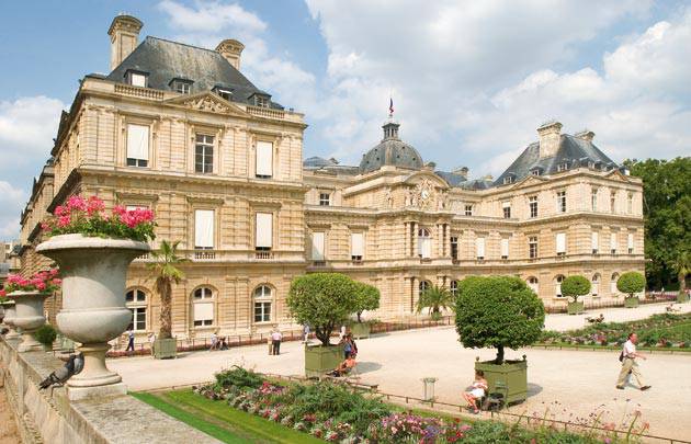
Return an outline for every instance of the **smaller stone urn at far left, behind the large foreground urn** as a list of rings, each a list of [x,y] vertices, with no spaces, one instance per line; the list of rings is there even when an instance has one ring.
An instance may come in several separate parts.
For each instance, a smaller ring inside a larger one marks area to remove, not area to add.
[[[16,348],[19,352],[43,350],[41,342],[34,338],[34,332],[46,323],[43,303],[49,296],[49,293],[41,292],[12,292],[8,295],[14,300],[15,317],[12,323],[22,330],[22,342]]]

